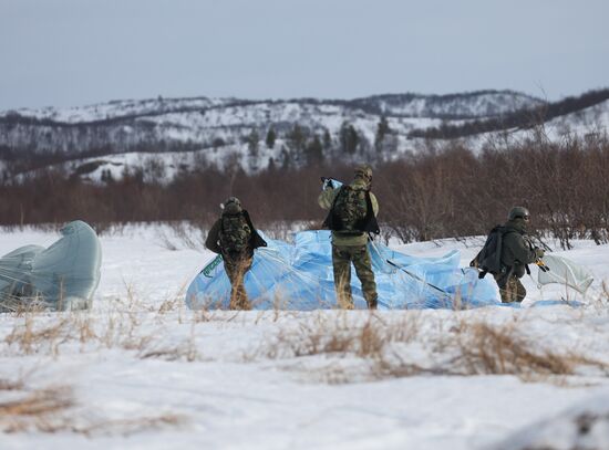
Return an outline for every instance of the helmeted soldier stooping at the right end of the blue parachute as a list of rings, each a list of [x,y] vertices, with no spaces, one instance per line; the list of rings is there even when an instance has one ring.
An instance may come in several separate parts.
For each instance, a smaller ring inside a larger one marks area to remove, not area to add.
[[[502,273],[495,276],[503,303],[522,302],[527,291],[520,279],[528,271],[527,264],[544,257],[544,250],[534,247],[527,233],[528,209],[515,207],[509,211],[504,224],[502,241]]]

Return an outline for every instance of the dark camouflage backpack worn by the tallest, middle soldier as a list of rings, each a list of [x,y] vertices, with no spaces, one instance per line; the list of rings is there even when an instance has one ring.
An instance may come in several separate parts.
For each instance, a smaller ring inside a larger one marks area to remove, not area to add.
[[[380,230],[372,209],[370,191],[342,186],[323,226],[348,236],[360,236],[364,232],[378,234]]]

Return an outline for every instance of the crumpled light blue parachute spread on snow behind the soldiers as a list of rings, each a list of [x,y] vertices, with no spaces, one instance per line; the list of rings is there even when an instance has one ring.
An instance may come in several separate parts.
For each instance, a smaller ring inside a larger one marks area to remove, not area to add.
[[[293,244],[265,237],[257,249],[245,287],[255,310],[338,307],[332,273],[330,231],[296,233]],[[460,269],[460,252],[416,258],[369,243],[379,293],[379,308],[457,308],[496,305],[495,283],[478,279],[476,269]],[[357,308],[365,308],[354,270],[351,289]],[[230,283],[221,257],[211,260],[190,283],[186,304],[196,308],[228,308]]]

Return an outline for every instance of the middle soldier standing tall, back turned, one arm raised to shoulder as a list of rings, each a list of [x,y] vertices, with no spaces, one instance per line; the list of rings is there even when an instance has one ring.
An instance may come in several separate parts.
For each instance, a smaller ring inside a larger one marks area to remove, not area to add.
[[[332,230],[332,265],[334,289],[340,307],[352,310],[351,262],[362,283],[364,299],[370,310],[378,305],[376,283],[368,251],[368,232],[379,232],[376,214],[379,203],[370,192],[372,169],[355,169],[351,185],[334,189],[327,186],[318,198],[319,206],[329,210],[324,227]]]

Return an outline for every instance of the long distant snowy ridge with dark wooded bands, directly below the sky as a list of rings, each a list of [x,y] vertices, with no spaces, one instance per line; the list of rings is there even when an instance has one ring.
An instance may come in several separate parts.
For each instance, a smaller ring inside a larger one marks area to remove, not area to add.
[[[395,133],[405,136],[414,128],[437,126],[447,117],[461,123],[539,103],[507,91],[445,96],[384,95],[354,101],[252,102],[205,97],[123,101],[68,109],[0,113],[0,146],[70,155],[202,149],[213,147],[214,143],[239,143],[251,129],[264,138],[271,126],[281,133],[298,124],[311,133],[328,129],[334,136],[344,122],[372,140],[383,114]]]

